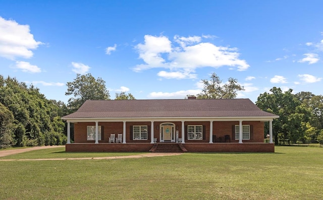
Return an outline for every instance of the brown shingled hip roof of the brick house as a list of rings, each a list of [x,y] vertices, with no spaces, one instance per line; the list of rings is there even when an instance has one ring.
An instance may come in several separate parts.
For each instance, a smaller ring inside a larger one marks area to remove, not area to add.
[[[269,117],[250,99],[87,100],[74,118]]]

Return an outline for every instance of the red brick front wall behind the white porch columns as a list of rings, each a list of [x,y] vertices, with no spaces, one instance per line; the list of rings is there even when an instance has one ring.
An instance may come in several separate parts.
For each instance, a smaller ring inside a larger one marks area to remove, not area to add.
[[[154,122],[154,138],[159,142],[159,125],[164,122]],[[179,132],[179,138],[182,138],[182,122],[172,121],[175,124],[175,130]],[[264,124],[260,121],[243,121],[243,125],[250,125],[250,140],[243,140],[243,143],[263,143],[264,139]],[[109,143],[110,134],[123,134],[123,122],[98,122],[101,126],[101,138],[99,143]],[[132,140],[132,126],[133,125],[147,125],[148,138],[147,140]],[[187,140],[187,125],[202,125],[203,139],[202,140]],[[238,143],[234,138],[234,126],[239,125],[238,121],[213,121],[213,142],[225,142],[224,137],[230,136],[230,143]],[[87,140],[87,126],[95,126],[95,122],[79,122],[74,124],[74,142],[75,143],[94,143],[95,141]],[[126,143],[150,143],[150,121],[143,122],[126,122]],[[209,142],[209,121],[186,121],[184,123],[185,143],[208,143]],[[216,138],[216,139],[215,139]]]

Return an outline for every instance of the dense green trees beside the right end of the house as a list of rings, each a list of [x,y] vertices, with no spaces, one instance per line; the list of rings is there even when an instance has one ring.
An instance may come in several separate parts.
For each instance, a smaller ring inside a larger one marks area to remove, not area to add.
[[[270,92],[260,94],[256,105],[261,110],[280,116],[273,123],[275,143],[279,144],[282,140],[289,140],[291,143],[316,140],[320,128],[312,123],[313,117],[317,117],[315,109],[308,106],[315,95],[308,92],[294,95],[292,89],[283,92],[276,87]]]

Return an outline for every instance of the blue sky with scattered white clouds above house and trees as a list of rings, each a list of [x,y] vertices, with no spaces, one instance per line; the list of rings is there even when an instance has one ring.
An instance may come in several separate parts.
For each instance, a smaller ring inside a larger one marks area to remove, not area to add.
[[[322,95],[323,1],[4,1],[0,74],[67,103],[91,73],[111,99],[183,99],[216,73],[256,101],[273,87]]]

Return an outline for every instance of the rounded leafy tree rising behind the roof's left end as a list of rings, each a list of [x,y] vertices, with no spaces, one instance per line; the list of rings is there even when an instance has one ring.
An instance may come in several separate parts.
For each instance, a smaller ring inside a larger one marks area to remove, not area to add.
[[[77,74],[73,82],[67,82],[65,95],[73,95],[69,99],[68,107],[72,111],[77,110],[86,100],[108,100],[109,91],[105,88],[105,81],[95,78],[91,74]]]

